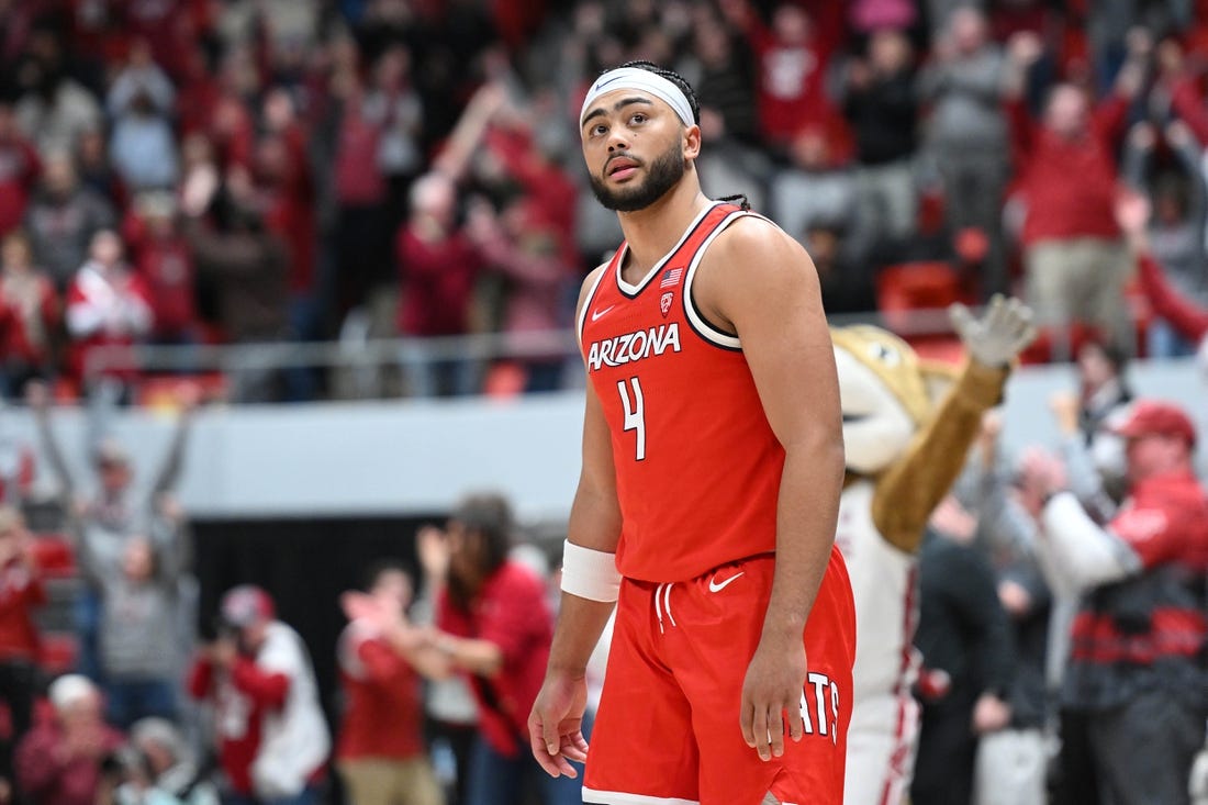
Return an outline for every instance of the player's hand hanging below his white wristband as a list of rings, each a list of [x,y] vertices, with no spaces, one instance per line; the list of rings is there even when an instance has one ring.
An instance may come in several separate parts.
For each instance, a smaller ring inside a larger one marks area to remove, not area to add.
[[[587,708],[587,681],[551,672],[529,714],[529,741],[533,757],[551,777],[577,777],[569,760],[587,760],[583,740],[583,711]]]

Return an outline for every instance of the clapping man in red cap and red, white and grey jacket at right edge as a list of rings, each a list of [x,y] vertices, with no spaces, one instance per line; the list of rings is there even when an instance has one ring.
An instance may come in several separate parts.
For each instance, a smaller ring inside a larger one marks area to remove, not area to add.
[[[1128,494],[1099,525],[1034,461],[1036,552],[1055,591],[1081,597],[1062,706],[1085,717],[1097,787],[1117,805],[1189,801],[1208,717],[1208,493],[1192,471],[1196,428],[1172,402],[1139,400],[1126,440]]]

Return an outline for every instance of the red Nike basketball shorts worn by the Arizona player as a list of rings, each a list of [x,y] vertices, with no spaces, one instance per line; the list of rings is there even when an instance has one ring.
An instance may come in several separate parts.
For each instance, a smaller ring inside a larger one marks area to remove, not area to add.
[[[805,630],[806,735],[760,760],[738,717],[759,644],[774,556],[726,564],[691,581],[626,579],[617,601],[583,801],[604,805],[796,805],[843,801],[852,718],[855,606],[838,550]]]

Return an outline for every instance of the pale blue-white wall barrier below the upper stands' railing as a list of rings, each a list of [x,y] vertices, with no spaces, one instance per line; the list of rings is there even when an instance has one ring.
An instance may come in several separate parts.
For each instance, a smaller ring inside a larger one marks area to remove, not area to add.
[[[1198,465],[1208,468],[1208,378],[1190,359],[1138,361],[1128,373],[1138,394],[1192,411],[1204,434]],[[1016,373],[1004,410],[1007,450],[1055,444],[1047,399],[1074,382],[1068,365]],[[579,392],[506,401],[205,407],[196,417],[180,494],[198,517],[318,517],[440,511],[465,491],[490,488],[511,496],[524,519],[562,519],[579,477],[581,419]],[[174,418],[134,409],[109,421],[140,471],[150,473]],[[76,473],[89,479],[85,412],[59,409],[53,423]],[[39,448],[28,411],[0,411],[0,442]],[[40,458],[39,469],[36,488],[52,492]]]

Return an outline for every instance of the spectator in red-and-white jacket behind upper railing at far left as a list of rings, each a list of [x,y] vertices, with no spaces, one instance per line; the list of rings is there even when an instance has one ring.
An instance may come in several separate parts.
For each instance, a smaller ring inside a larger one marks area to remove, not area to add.
[[[104,347],[129,347],[151,330],[152,309],[143,278],[130,271],[126,247],[112,230],[93,236],[89,259],[68,289],[66,324],[71,337],[69,373],[86,378],[88,354]],[[101,376],[128,382],[130,367],[100,369]]]

